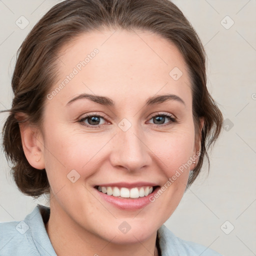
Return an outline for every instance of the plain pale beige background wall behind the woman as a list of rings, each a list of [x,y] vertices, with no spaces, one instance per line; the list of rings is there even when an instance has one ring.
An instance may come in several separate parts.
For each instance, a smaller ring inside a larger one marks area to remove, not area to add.
[[[57,2],[0,0],[1,110],[11,106],[10,78],[15,52],[35,22]],[[204,165],[165,225],[182,239],[204,244],[225,256],[253,256],[256,255],[256,0],[173,2],[189,19],[205,46],[208,89],[223,112],[225,127],[210,153],[209,175]],[[15,23],[22,15],[29,21],[23,29]],[[6,114],[0,114],[0,128],[5,117]],[[44,200],[33,200],[17,190],[2,151],[0,164],[0,221],[21,220],[36,203],[43,204]]]

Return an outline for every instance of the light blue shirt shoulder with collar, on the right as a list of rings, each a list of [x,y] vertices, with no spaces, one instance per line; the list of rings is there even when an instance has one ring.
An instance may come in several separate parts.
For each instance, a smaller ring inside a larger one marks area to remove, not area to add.
[[[157,230],[162,256],[221,256],[218,252],[195,242],[182,240],[175,236],[165,225]]]

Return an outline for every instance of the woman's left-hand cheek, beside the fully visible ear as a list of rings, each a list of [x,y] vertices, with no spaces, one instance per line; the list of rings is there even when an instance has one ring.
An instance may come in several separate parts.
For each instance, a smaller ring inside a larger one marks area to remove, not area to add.
[[[66,177],[70,170],[76,170],[86,177],[93,171],[100,149],[109,140],[106,134],[85,133],[64,125],[51,125],[45,132],[45,169],[50,176]],[[51,171],[51,170],[54,170]],[[83,170],[86,170],[83,171]]]

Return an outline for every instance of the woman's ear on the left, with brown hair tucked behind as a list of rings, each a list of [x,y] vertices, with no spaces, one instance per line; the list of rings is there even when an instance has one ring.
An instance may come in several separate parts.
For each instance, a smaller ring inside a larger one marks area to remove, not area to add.
[[[44,144],[40,129],[31,125],[25,113],[16,113],[24,154],[29,164],[36,169],[44,169]]]

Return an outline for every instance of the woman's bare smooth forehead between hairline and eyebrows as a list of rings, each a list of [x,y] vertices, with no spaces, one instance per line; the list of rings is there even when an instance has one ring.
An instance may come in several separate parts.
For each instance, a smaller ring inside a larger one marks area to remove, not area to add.
[[[64,45],[58,59],[58,83],[53,89],[64,85],[61,97],[56,96],[63,103],[79,93],[104,95],[115,101],[174,93],[191,100],[182,54],[172,42],[152,32],[84,33]],[[71,73],[72,78],[67,77]]]

